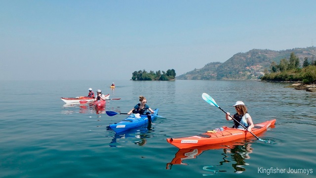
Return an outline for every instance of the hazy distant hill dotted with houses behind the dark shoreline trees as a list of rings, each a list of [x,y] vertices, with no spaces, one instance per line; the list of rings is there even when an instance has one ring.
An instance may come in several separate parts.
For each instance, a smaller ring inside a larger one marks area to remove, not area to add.
[[[287,50],[252,49],[248,52],[239,52],[224,63],[211,62],[200,69],[194,69],[176,79],[182,80],[247,80],[257,79],[270,71],[273,61],[277,64],[281,59],[290,58],[294,52],[303,64],[304,58],[310,61],[316,60],[316,47],[294,48]]]

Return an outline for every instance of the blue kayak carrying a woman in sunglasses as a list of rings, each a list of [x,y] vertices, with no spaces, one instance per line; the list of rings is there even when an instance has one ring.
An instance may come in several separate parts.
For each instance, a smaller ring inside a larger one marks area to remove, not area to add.
[[[154,110],[154,114],[150,114],[152,116],[152,121],[157,118],[159,109]],[[120,121],[116,124],[110,124],[110,128],[113,129],[116,133],[124,132],[126,130],[136,128],[148,123],[147,115],[139,115],[139,114],[130,114],[127,118]]]

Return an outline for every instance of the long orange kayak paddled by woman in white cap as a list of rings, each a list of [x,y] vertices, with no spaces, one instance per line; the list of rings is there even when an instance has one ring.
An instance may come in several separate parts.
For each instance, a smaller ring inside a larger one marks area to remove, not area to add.
[[[255,124],[255,127],[251,130],[251,132],[253,134],[260,134],[263,131],[266,131],[269,127],[274,126],[275,123],[276,120],[274,119],[260,124]],[[207,131],[204,134],[179,138],[167,138],[167,142],[182,149],[233,141],[253,136],[253,134],[243,129],[233,129],[224,126],[218,131]]]

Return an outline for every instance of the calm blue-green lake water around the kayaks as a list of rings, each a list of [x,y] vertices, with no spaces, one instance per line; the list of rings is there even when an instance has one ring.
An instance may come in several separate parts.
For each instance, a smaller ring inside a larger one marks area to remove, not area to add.
[[[110,89],[112,82],[115,89]],[[1,178],[316,177],[316,93],[284,88],[289,84],[194,80],[0,83]],[[60,99],[87,95],[88,88],[121,98],[107,101],[105,109],[122,113],[144,95],[152,109],[159,108],[160,117],[151,128],[115,134],[108,126],[126,115],[110,117],[88,104],[66,105]],[[226,148],[197,150],[179,150],[167,143],[166,138],[233,125],[225,113],[202,99],[203,92],[231,113],[235,112],[232,105],[243,101],[254,123],[276,119],[276,126],[259,136],[271,142],[252,137]],[[181,160],[183,153],[189,156]]]

